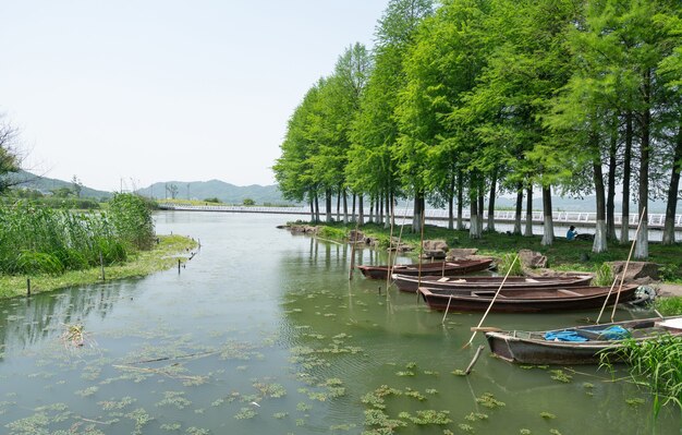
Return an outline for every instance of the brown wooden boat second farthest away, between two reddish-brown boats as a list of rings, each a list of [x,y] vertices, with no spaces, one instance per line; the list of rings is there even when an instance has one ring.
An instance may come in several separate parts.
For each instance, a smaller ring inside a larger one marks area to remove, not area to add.
[[[444,290],[492,290],[499,289],[504,277],[491,276],[425,276],[413,277],[402,274],[391,275],[400,291],[416,292],[419,287]],[[593,276],[589,274],[568,275],[560,277],[508,277],[503,289],[537,289],[549,287],[579,287],[589,286]]]

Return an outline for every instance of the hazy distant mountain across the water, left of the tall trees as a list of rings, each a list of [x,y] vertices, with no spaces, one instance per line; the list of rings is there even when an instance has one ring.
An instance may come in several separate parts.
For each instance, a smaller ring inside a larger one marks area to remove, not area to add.
[[[170,198],[173,186],[178,200],[206,200],[217,197],[227,204],[242,204],[244,200],[253,200],[256,204],[288,205],[277,185],[238,186],[220,180],[210,181],[167,181],[154,183],[137,190],[137,193],[156,200]]]

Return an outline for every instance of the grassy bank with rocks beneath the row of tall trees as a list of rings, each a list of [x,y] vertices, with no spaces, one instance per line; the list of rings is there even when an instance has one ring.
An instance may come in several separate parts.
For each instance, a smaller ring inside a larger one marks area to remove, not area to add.
[[[346,234],[355,229],[354,225],[343,225],[340,222],[324,223],[321,230],[327,239],[342,241]],[[367,223],[361,229],[366,235],[377,238],[382,246],[388,246],[390,229],[376,223]],[[412,254],[417,257],[417,249],[422,239],[421,233],[411,232],[410,226],[393,228],[393,238],[401,238],[402,243],[414,247]],[[484,232],[482,239],[471,239],[468,231],[449,230],[444,227],[426,226],[424,229],[424,240],[441,239],[451,249],[474,247],[479,255],[488,255],[502,258],[508,254],[514,254],[522,249],[539,252],[547,256],[548,267],[558,270],[580,270],[596,273],[605,262],[616,262],[628,259],[631,244],[609,243],[608,252],[595,254],[592,252],[592,241],[556,238],[551,246],[540,244],[541,237],[511,235],[501,232]],[[633,258],[634,261],[634,258]],[[649,242],[649,258],[647,259],[659,265],[661,278],[668,282],[682,283],[682,245],[675,244],[665,246],[660,243]]]

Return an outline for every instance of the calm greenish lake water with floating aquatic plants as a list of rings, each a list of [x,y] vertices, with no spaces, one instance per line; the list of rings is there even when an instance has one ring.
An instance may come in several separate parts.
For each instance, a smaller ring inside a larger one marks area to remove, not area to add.
[[[653,432],[646,391],[604,370],[520,367],[486,348],[470,376],[453,374],[484,343],[479,334],[463,348],[482,314],[443,325],[414,294],[357,273],[349,281],[350,250],[276,228],[287,219],[159,214],[158,233],[200,240],[180,274],[0,302],[0,433],[360,434],[387,420],[401,434]],[[358,263],[385,261],[357,252]],[[485,324],[544,329],[596,315]],[[64,337],[74,324],[84,347]],[[421,424],[425,411],[450,422]],[[657,433],[680,433],[673,411]]]

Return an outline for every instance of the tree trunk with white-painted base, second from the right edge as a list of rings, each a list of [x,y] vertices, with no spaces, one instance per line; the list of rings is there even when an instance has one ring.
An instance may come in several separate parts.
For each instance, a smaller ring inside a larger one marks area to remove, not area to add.
[[[644,74],[644,83],[642,92],[644,93],[645,109],[642,113],[642,152],[640,153],[640,216],[642,223],[640,225],[640,233],[637,234],[637,244],[635,246],[635,258],[646,259],[649,256],[649,141],[650,141],[650,123],[651,111],[649,107],[651,89],[651,71],[647,70]]]

